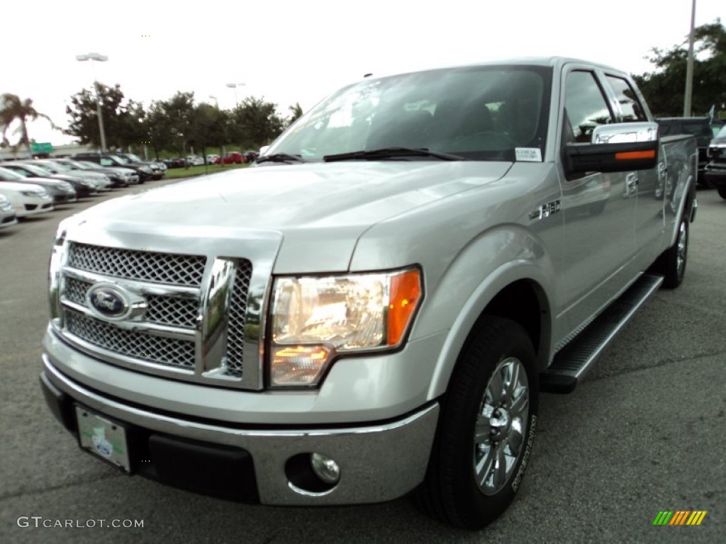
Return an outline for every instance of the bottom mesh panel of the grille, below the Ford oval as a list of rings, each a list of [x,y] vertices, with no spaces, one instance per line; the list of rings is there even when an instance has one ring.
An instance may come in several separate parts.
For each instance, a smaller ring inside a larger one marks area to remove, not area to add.
[[[192,340],[127,331],[68,308],[65,310],[65,323],[71,334],[113,353],[164,366],[194,368],[195,345]]]

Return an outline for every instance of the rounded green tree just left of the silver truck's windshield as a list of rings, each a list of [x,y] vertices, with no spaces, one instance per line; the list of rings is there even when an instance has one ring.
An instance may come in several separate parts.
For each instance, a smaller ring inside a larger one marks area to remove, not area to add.
[[[232,110],[229,137],[242,149],[259,149],[277,138],[284,127],[277,104],[248,96]]]

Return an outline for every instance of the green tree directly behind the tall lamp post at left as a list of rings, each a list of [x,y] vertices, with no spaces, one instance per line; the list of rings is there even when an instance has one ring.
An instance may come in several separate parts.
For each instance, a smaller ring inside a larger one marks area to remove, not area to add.
[[[101,146],[98,126],[97,100],[101,101],[104,132],[107,146],[121,149],[139,145],[146,136],[144,130],[145,112],[142,104],[124,100],[123,91],[118,84],[110,87],[94,83],[94,93],[83,88],[70,97],[70,105],[65,112],[70,116],[69,136],[75,136],[81,144]]]

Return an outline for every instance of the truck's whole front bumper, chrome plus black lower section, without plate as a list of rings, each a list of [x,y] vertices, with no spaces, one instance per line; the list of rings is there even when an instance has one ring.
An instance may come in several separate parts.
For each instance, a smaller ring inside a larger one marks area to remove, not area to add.
[[[134,437],[132,473],[232,500],[322,506],[398,498],[423,481],[439,416],[439,405],[429,403],[399,419],[370,424],[234,425],[100,395],[62,374],[48,355],[43,361],[46,401],[70,432],[76,433],[73,406],[79,403],[128,426]],[[340,466],[340,481],[323,492],[299,485],[299,467],[291,461],[314,452]],[[205,477],[179,466],[201,466]]]

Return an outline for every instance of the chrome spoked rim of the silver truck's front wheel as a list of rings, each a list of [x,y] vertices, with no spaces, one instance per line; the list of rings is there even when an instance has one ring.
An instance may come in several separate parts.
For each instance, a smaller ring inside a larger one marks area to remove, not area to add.
[[[486,384],[474,429],[474,475],[484,495],[494,495],[514,471],[529,416],[529,382],[518,358],[500,361]]]

